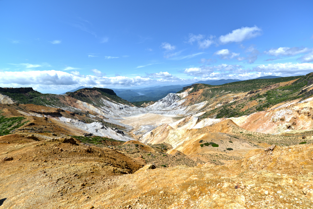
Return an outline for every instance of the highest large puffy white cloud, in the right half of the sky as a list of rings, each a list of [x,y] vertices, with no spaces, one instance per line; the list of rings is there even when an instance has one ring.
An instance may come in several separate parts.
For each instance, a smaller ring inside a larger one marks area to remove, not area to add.
[[[256,36],[261,35],[261,29],[257,26],[254,27],[242,27],[236,30],[233,30],[231,33],[226,35],[222,35],[219,37],[221,43],[229,43],[229,42],[242,42],[245,39],[254,38]]]

